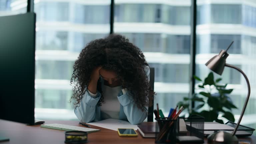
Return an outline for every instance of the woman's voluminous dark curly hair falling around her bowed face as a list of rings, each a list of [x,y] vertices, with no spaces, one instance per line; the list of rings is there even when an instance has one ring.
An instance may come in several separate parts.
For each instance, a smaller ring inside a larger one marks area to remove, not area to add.
[[[144,71],[148,63],[137,46],[117,34],[93,40],[82,49],[73,66],[74,71],[70,80],[70,83],[74,84],[70,102],[74,101],[75,106],[80,106],[79,103],[91,80],[90,76],[99,66],[120,76],[122,88],[126,88],[133,96],[138,108],[152,106],[155,92],[150,87]],[[98,80],[97,90],[101,93],[97,106],[101,106],[104,101],[101,79]]]

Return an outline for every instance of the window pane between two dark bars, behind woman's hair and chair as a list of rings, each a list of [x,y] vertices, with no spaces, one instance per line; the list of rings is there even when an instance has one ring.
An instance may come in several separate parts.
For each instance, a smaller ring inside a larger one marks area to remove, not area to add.
[[[114,21],[114,32],[140,48],[149,66],[155,68],[154,104],[168,113],[189,92],[190,3],[119,1]],[[168,31],[170,28],[176,32]],[[184,88],[170,90],[177,84]]]

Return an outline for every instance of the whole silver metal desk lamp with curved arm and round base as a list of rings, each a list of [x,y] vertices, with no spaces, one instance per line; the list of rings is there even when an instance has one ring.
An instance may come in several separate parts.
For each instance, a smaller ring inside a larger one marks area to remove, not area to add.
[[[222,75],[222,72],[224,70],[224,67],[230,67],[230,68],[234,68],[236,70],[238,70],[240,73],[243,74],[246,82],[247,82],[247,86],[248,86],[248,94],[247,94],[247,98],[246,101],[244,103],[240,118],[236,124],[235,129],[233,130],[232,134],[227,132],[227,131],[217,131],[214,132],[212,134],[210,134],[208,136],[208,143],[209,144],[238,144],[238,139],[235,136],[237,128],[242,120],[242,117],[244,115],[244,111],[246,108],[246,105],[248,103],[249,97],[250,97],[250,84],[249,84],[249,80],[247,78],[247,76],[245,75],[245,73],[239,69],[238,67],[235,67],[233,65],[227,64],[226,63],[226,58],[228,57],[228,49],[230,48],[230,46],[233,44],[234,41],[232,41],[232,43],[229,45],[229,47],[227,48],[227,50],[221,50],[219,55],[214,56],[213,58],[211,58],[205,65],[211,69],[213,72]]]

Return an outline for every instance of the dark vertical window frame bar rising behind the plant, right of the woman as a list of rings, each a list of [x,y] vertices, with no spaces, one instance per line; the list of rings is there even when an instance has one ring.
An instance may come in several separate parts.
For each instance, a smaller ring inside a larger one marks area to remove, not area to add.
[[[190,37],[190,92],[189,95],[192,96],[195,93],[195,75],[196,64],[196,0],[191,0],[191,37]],[[192,103],[192,107],[195,103]]]

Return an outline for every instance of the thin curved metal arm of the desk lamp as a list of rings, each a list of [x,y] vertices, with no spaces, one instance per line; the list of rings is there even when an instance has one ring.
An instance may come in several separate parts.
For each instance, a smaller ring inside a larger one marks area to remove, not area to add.
[[[235,67],[235,66],[230,65],[230,64],[227,64],[227,63],[225,64],[225,66],[230,67],[230,68],[234,68],[234,69],[238,70],[240,73],[242,73],[244,78],[245,78],[245,80],[246,80],[246,82],[247,82],[247,86],[248,86],[248,94],[247,94],[247,98],[246,98],[245,103],[244,103],[243,110],[242,110],[240,118],[239,118],[239,120],[238,120],[238,122],[236,124],[236,127],[235,127],[235,129],[233,130],[233,133],[232,133],[232,135],[235,135],[236,131],[237,131],[237,128],[238,128],[238,126],[239,126],[239,124],[240,124],[240,122],[242,120],[243,115],[244,115],[244,111],[246,109],[247,103],[249,101],[249,97],[250,97],[250,93],[251,93],[251,88],[250,88],[250,83],[249,83],[249,80],[248,80],[247,76],[245,75],[245,73],[240,68]]]

